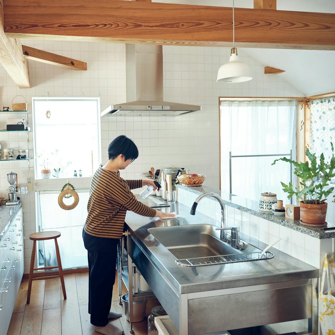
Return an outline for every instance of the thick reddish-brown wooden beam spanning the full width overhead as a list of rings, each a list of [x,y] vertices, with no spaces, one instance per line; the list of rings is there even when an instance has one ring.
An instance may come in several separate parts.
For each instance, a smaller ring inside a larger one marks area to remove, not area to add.
[[[226,46],[232,8],[123,0],[4,0],[7,36]],[[335,50],[335,14],[235,10],[237,47]]]

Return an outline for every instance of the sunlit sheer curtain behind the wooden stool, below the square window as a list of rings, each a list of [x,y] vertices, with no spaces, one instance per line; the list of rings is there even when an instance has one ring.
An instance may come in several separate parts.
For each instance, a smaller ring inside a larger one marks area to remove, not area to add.
[[[63,270],[87,267],[87,251],[82,240],[82,229],[87,217],[88,188],[75,189],[79,196],[78,205],[72,210],[64,210],[58,205],[61,190],[39,190],[36,192],[37,231],[57,230],[57,239]],[[73,197],[64,198],[70,205]],[[47,240],[38,244],[39,266],[57,266],[55,242]],[[49,270],[58,271],[57,269]],[[48,272],[46,270],[46,272]]]

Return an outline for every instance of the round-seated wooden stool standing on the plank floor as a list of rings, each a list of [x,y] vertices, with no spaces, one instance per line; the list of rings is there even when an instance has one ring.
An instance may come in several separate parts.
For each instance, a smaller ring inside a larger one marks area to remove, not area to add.
[[[30,259],[27,304],[29,304],[29,302],[30,302],[31,283],[32,283],[33,280],[41,280],[41,279],[50,279],[50,278],[60,277],[64,299],[66,299],[61,256],[59,254],[59,248],[58,248],[58,243],[57,243],[57,238],[60,237],[60,236],[61,236],[61,233],[59,231],[41,231],[41,232],[35,232],[35,233],[29,235],[29,239],[34,241],[34,243],[32,244],[32,252],[31,252],[31,259]],[[52,239],[55,239],[55,247],[56,247],[56,256],[57,256],[58,266],[45,266],[43,268],[36,268],[35,269],[34,268],[34,262],[35,262],[35,253],[36,253],[36,241],[45,241],[45,240],[52,240]],[[48,270],[48,269],[55,269],[55,268],[58,268],[59,274],[52,275],[52,276],[43,276],[43,277],[35,277],[34,278],[34,270]]]

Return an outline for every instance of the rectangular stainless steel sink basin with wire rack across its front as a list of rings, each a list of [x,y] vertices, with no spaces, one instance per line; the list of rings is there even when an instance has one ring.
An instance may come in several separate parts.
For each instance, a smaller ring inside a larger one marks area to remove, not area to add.
[[[248,251],[236,250],[219,239],[219,232],[215,228],[211,224],[193,224],[149,228],[148,231],[182,266],[237,263],[274,257],[271,252],[261,256],[260,249],[248,244]]]

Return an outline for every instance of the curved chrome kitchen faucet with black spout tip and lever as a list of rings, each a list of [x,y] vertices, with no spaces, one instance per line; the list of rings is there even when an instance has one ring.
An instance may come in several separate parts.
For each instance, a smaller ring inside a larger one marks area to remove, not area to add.
[[[216,228],[216,230],[221,230],[220,240],[223,241],[223,242],[226,242],[226,243],[230,242],[230,244],[233,248],[238,249],[238,250],[242,250],[244,248],[244,243],[240,242],[240,226],[239,225],[233,225],[231,227],[226,227],[226,225],[225,225],[225,217],[226,217],[225,216],[225,211],[226,211],[226,208],[224,206],[224,202],[223,202],[222,198],[219,195],[217,195],[216,193],[213,193],[213,192],[204,193],[204,194],[199,195],[199,197],[197,199],[195,199],[195,201],[192,205],[190,214],[195,215],[195,210],[198,206],[199,201],[203,198],[206,198],[206,197],[215,198],[221,206],[221,228]],[[226,232],[225,232],[225,230],[227,230],[227,229],[231,229],[230,239],[228,238],[228,236],[226,235]]]

